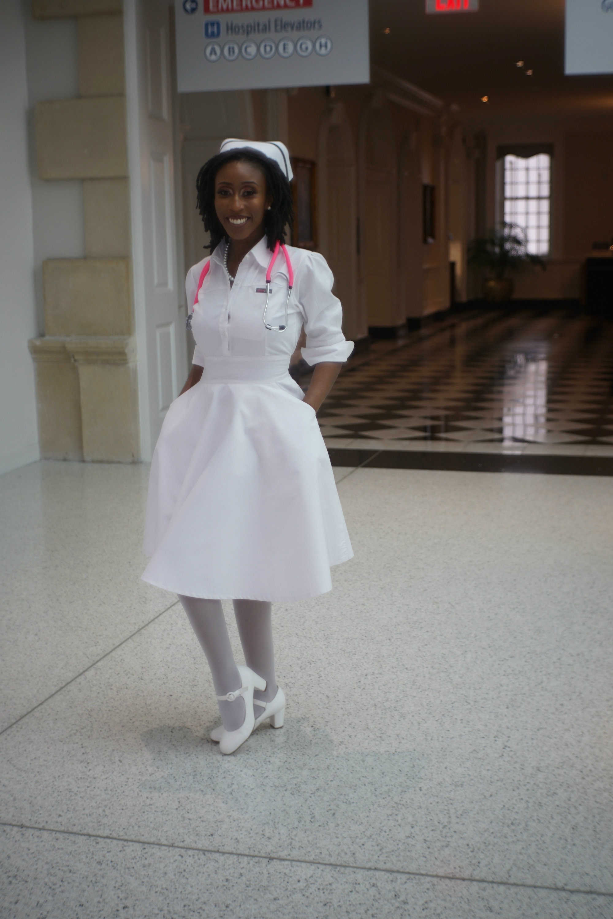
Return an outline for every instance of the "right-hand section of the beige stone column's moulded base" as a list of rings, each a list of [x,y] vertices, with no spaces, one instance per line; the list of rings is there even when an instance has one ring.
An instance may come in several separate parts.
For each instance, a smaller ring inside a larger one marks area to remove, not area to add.
[[[79,371],[85,459],[134,462],[140,457],[134,340],[73,339],[70,348]]]

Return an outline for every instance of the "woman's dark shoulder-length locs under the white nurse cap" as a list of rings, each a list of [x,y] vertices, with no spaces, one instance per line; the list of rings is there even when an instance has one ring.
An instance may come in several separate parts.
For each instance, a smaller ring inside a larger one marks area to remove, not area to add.
[[[285,243],[286,227],[293,226],[294,209],[291,197],[291,188],[287,178],[283,175],[274,160],[257,153],[255,150],[229,150],[226,153],[216,153],[201,167],[196,179],[196,204],[199,215],[204,223],[204,229],[210,233],[210,244],[205,249],[211,253],[221,241],[229,243],[221,222],[215,211],[215,176],[226,163],[247,160],[258,166],[266,178],[267,195],[272,199],[270,210],[264,212],[264,233],[269,249],[274,249],[275,244]]]

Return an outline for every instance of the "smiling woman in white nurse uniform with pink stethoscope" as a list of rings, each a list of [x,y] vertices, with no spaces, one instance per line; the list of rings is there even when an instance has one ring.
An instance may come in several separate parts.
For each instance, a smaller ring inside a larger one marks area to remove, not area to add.
[[[224,141],[200,169],[211,255],[187,273],[196,350],[149,482],[142,577],[178,595],[207,655],[223,754],[263,720],[283,724],[271,603],[330,590],[330,566],[353,555],[315,417],[353,343],[324,258],[279,249],[291,178],[282,143]],[[302,324],[314,365],[304,396],[288,373]],[[224,598],[246,666],[233,660]]]

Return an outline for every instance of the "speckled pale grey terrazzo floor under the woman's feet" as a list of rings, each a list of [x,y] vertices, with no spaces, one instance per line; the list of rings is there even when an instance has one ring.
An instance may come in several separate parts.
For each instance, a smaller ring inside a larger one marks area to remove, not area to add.
[[[222,757],[147,475],[0,478],[2,919],[613,917],[610,479],[337,468],[355,558]]]

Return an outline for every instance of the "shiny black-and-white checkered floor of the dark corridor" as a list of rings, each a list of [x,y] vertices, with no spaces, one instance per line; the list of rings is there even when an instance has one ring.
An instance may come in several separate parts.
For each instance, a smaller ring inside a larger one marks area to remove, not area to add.
[[[329,448],[613,457],[613,323],[465,312],[356,357],[319,413]]]

